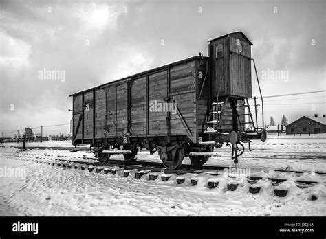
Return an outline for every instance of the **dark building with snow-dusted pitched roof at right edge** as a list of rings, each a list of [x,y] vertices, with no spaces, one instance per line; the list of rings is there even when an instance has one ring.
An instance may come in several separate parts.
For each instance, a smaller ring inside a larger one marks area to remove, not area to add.
[[[303,116],[295,120],[294,122],[287,124],[287,134],[318,134],[326,133],[326,117]]]

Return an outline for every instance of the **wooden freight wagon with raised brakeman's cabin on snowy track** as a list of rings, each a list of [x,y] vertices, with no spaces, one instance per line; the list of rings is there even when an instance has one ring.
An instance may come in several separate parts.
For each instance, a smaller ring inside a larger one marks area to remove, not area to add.
[[[243,106],[251,97],[246,60],[250,66],[252,43],[242,35],[210,40],[209,57],[193,56],[72,94],[73,144],[91,144],[102,163],[114,153],[132,161],[139,148],[158,150],[164,166],[174,169],[185,155],[202,165],[224,142],[237,148],[239,141],[261,138],[257,128],[252,135],[243,129],[246,115],[251,117]],[[239,38],[243,53],[232,53]]]

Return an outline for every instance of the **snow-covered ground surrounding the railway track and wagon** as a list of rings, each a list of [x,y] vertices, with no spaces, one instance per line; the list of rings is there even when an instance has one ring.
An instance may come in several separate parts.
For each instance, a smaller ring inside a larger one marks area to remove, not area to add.
[[[17,143],[10,144],[17,146]],[[44,146],[45,143],[39,144]],[[71,146],[69,142],[65,144]],[[252,173],[259,176],[319,182],[312,187],[298,188],[294,181],[285,181],[278,186],[289,189],[284,198],[274,195],[275,186],[267,179],[259,181],[261,192],[258,194],[248,192],[246,179],[230,179],[224,175],[212,178],[208,174],[199,174],[197,185],[192,186],[189,181],[178,185],[174,175],[165,182],[159,178],[148,181],[146,175],[142,179],[133,179],[119,174],[98,174],[34,163],[31,160],[36,159],[36,156],[33,155],[30,155],[28,161],[17,160],[4,154],[19,150],[5,145],[5,148],[0,148],[0,168],[2,171],[19,169],[23,175],[1,177],[1,216],[326,216],[326,178],[313,172],[326,172],[325,135],[269,135],[265,144],[252,144],[255,150],[245,152],[240,158],[240,167],[252,168]],[[49,149],[28,152],[43,152],[55,157],[93,157],[89,152]],[[217,152],[219,156],[210,159],[208,163],[232,166],[228,147]],[[118,156],[118,159],[121,158]],[[142,151],[138,154],[138,160],[157,161],[158,156]],[[188,158],[185,163],[189,163]],[[307,172],[298,175],[272,170],[279,168]],[[208,179],[219,181],[219,185],[209,189],[206,185]],[[227,184],[232,183],[231,180],[239,182],[235,191],[226,189]],[[316,201],[311,200],[312,194],[318,196]]]

